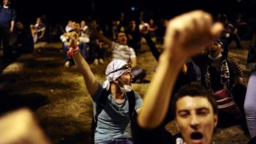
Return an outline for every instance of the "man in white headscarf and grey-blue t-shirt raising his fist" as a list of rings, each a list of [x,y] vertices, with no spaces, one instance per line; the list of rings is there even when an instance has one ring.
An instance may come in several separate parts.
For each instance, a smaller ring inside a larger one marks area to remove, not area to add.
[[[129,98],[127,93],[132,91],[131,66],[124,60],[113,60],[106,68],[106,81],[99,84],[92,70],[77,46],[78,35],[76,32],[68,33],[68,54],[73,56],[77,69],[84,77],[86,88],[93,100],[93,115],[97,118],[94,143],[133,143],[131,132],[131,115],[129,111]],[[108,93],[107,95],[104,93]],[[138,93],[133,92],[134,111],[140,113],[143,101]],[[102,102],[106,97],[106,102]],[[102,106],[103,105],[103,106]],[[99,112],[99,107],[103,108]],[[98,112],[98,113],[97,113]]]

